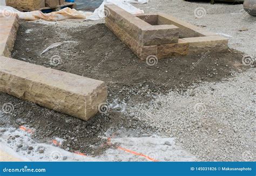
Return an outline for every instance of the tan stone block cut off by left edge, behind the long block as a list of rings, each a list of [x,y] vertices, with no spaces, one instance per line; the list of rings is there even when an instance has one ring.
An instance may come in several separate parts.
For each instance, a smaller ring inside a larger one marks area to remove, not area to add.
[[[0,55],[10,57],[18,30],[17,15],[8,18],[0,17],[0,26]]]

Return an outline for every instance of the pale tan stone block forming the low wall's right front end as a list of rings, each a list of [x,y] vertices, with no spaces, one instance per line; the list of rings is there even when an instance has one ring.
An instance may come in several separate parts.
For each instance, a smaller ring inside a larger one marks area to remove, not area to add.
[[[184,38],[189,43],[188,54],[199,54],[207,51],[223,52],[227,50],[228,40],[220,36]]]

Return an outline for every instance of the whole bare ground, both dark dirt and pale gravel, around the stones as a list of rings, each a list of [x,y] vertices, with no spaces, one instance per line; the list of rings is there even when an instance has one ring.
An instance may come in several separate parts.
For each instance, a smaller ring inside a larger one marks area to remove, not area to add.
[[[158,2],[137,6],[145,12],[170,13],[212,32],[229,34],[233,36],[229,38],[230,47],[255,54],[255,43],[250,39],[256,19],[240,13],[241,5]],[[200,6],[207,13],[196,18],[194,9]],[[242,16],[245,20],[240,23],[248,30],[240,32],[234,22]],[[97,23],[22,23],[13,56],[104,80],[109,86],[108,101],[117,99],[124,111],[112,109],[107,115],[98,114],[92,121],[82,122],[1,94],[0,104],[10,102],[15,107],[12,115],[1,115],[2,127],[28,125],[35,129],[32,138],[37,142],[63,138],[67,140],[60,146],[63,149],[92,156],[116,147],[104,144],[109,134],[118,131],[115,137],[177,137],[179,144],[200,160],[253,160],[255,69],[247,66],[251,69],[246,71],[242,66],[243,53],[230,49],[222,54],[159,60],[157,65],[149,66]],[[97,25],[91,26],[94,24]],[[63,44],[40,56],[52,43],[68,40],[77,43]],[[58,66],[50,65],[53,55],[61,58]]]

